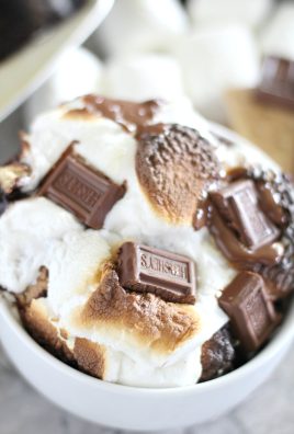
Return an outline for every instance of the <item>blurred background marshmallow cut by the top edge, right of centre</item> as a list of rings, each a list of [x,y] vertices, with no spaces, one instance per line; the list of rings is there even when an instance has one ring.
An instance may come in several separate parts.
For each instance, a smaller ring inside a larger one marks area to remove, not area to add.
[[[195,25],[239,23],[257,27],[272,7],[273,0],[188,0],[188,11]]]

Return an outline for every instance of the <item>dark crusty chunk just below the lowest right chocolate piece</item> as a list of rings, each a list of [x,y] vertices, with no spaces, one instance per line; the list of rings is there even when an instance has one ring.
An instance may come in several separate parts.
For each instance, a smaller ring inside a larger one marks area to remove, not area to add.
[[[200,381],[207,381],[233,370],[235,359],[234,339],[228,327],[225,326],[202,346],[202,375]]]

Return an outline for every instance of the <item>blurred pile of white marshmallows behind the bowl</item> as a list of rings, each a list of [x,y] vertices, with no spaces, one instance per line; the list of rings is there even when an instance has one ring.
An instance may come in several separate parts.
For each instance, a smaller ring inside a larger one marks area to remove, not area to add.
[[[258,84],[261,54],[294,59],[294,1],[185,4],[117,0],[91,41],[105,65],[83,49],[64,56],[57,73],[26,105],[26,119],[95,92],[134,101],[188,96],[208,119],[227,124],[224,94]]]

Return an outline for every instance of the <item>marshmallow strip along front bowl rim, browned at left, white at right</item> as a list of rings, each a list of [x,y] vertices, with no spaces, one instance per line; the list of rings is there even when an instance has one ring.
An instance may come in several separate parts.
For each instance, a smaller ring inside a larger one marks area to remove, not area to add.
[[[104,381],[136,387],[180,387],[196,382],[201,375],[200,349],[181,361],[162,367],[134,362],[126,354],[87,339],[72,338],[60,328],[46,298],[38,298],[23,310],[22,318],[32,335],[67,362]]]

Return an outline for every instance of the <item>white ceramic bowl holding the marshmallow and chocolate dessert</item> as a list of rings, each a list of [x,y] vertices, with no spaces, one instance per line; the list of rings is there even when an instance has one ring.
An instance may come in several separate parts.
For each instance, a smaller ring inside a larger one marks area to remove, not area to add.
[[[240,140],[226,128],[215,125],[213,129]],[[0,338],[24,378],[65,410],[115,429],[169,430],[219,416],[267,379],[294,340],[294,304],[274,338],[252,361],[218,379],[183,388],[113,385],[67,366],[35,343],[4,297],[0,297]]]

